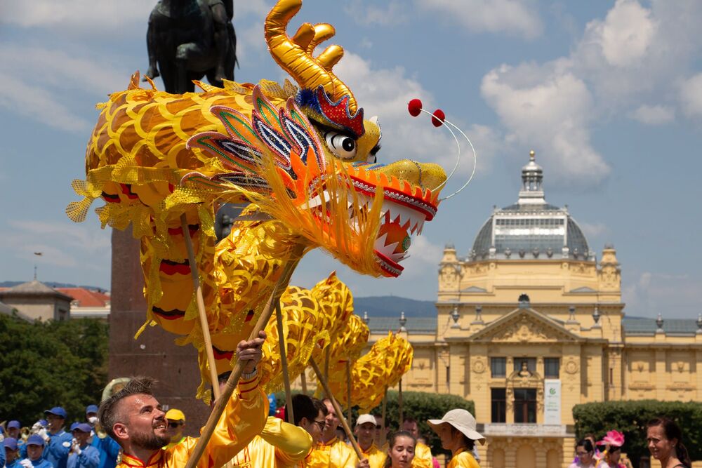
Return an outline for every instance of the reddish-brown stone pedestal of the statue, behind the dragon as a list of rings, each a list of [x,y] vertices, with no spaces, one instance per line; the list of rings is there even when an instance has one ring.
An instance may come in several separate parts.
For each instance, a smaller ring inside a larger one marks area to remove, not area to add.
[[[197,436],[210,413],[195,399],[200,382],[197,352],[191,345],[177,346],[177,335],[148,326],[138,340],[137,330],[146,320],[144,276],[139,264],[139,241],[131,228],[112,230],[112,293],[110,310],[109,379],[147,375],[159,380],[161,405],[185,413],[185,434]]]

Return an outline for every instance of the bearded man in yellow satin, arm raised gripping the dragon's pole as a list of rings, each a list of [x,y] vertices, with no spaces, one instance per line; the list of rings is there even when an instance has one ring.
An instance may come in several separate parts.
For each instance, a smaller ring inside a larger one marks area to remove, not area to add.
[[[263,429],[268,400],[258,387],[260,378],[256,366],[264,340],[262,331],[254,340],[239,342],[237,357],[244,361],[244,372],[236,394],[227,402],[205,447],[199,466],[222,467]],[[154,398],[153,385],[154,380],[148,377],[135,377],[100,405],[100,424],[123,450],[118,468],[182,468],[197,444],[197,438],[186,437],[177,446],[161,450],[171,439],[166,413]]]

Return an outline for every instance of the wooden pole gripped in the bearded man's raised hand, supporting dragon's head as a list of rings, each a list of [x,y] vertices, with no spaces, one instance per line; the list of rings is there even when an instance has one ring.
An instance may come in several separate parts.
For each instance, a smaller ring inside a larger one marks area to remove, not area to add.
[[[292,276],[293,270],[300,261],[299,258],[297,258],[297,256],[293,258],[294,260],[288,260],[288,262],[286,262],[285,266],[283,267],[283,272],[280,275],[278,281],[275,283],[275,286],[273,287],[273,290],[270,293],[270,297],[268,297],[268,300],[265,304],[263,312],[258,318],[256,326],[253,327],[251,335],[249,335],[249,340],[253,340],[254,338],[258,337],[258,333],[261,330],[265,329],[265,327],[267,326],[268,321],[270,320],[270,316],[272,316],[273,314],[275,302],[277,302],[278,297],[280,295],[279,290],[282,290],[282,288],[284,288],[284,286],[287,285],[288,281],[290,281],[290,276]],[[237,360],[237,363],[234,364],[234,368],[232,369],[232,373],[230,374],[229,379],[227,379],[224,391],[222,392],[220,398],[218,398],[215,401],[215,406],[214,408],[212,408],[210,417],[208,417],[205,427],[204,429],[202,429],[200,437],[199,439],[197,439],[197,443],[192,449],[192,453],[190,454],[190,458],[188,458],[187,463],[185,464],[185,468],[194,468],[197,465],[197,462],[200,461],[200,457],[202,457],[202,454],[205,451],[205,447],[210,441],[215,427],[217,426],[217,422],[222,416],[222,413],[224,413],[224,408],[225,406],[227,406],[227,402],[230,398],[232,398],[232,393],[234,393],[234,389],[237,387],[237,384],[239,383],[239,378],[241,378],[241,373],[243,371],[244,364],[241,363],[241,361]],[[215,382],[217,382],[217,380],[215,380]]]

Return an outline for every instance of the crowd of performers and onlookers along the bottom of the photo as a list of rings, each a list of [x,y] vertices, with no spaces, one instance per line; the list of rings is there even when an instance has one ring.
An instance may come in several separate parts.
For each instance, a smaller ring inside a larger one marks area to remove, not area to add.
[[[380,415],[359,415],[353,434],[357,453],[343,430],[338,431],[340,417],[329,399],[296,394],[292,422],[285,422],[285,410],[269,415],[272,408],[258,375],[264,340],[262,332],[255,340],[239,343],[237,356],[244,372],[198,468],[439,468],[412,417],[389,434]],[[220,375],[220,389],[228,377]],[[60,406],[46,410],[45,419],[25,431],[19,421],[9,421],[0,426],[5,449],[0,468],[184,468],[198,439],[183,436],[185,414],[161,410],[153,387],[148,377],[133,378],[100,408],[88,406],[84,421],[74,422],[68,431]],[[447,468],[479,468],[476,443],[485,443],[485,438],[476,430],[475,417],[454,409],[427,422],[442,448],[451,452]],[[647,440],[661,468],[691,468],[682,432],[672,420],[649,422]],[[585,437],[576,443],[570,468],[630,468],[621,457],[624,446],[624,436],[616,430],[600,441]]]

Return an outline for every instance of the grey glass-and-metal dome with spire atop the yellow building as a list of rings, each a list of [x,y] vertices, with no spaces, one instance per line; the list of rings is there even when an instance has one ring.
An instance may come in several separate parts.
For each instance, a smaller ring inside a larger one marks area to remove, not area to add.
[[[469,261],[486,259],[562,259],[595,261],[578,223],[567,208],[546,203],[543,170],[529,153],[522,168],[522,189],[517,203],[495,209],[479,230]]]

